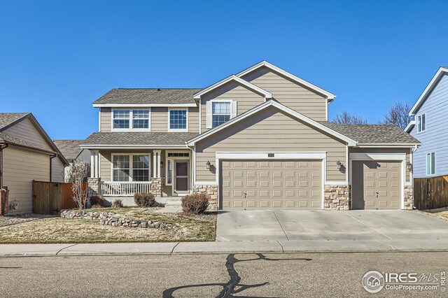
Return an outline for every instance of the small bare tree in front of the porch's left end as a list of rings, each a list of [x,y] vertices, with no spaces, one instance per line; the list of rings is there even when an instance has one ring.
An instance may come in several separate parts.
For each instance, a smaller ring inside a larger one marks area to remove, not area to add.
[[[89,166],[85,162],[78,162],[71,166],[69,180],[73,192],[73,201],[78,206],[79,212],[84,213],[85,202],[87,201],[87,187],[84,187],[85,178],[88,177]]]

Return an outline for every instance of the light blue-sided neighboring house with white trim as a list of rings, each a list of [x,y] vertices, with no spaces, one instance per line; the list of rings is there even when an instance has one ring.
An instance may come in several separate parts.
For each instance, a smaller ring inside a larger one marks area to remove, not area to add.
[[[423,144],[413,155],[415,178],[448,175],[447,101],[448,66],[442,66],[409,111],[405,130]]]

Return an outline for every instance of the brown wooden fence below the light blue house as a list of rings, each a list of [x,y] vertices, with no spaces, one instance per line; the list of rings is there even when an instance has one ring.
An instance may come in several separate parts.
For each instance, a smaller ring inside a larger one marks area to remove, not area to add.
[[[448,206],[448,176],[414,178],[414,206],[419,210]]]

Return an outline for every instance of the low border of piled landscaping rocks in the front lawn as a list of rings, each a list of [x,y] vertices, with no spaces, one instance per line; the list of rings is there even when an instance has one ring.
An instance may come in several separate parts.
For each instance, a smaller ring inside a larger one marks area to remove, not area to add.
[[[176,229],[176,226],[169,222],[153,222],[152,220],[138,220],[124,218],[117,213],[107,212],[85,212],[83,215],[79,211],[63,210],[61,218],[98,220],[100,225],[111,225],[113,227],[141,227],[149,229]]]

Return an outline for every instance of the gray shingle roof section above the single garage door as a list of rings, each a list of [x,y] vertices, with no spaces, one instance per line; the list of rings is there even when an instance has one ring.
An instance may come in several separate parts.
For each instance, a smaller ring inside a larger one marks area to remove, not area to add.
[[[339,125],[335,122],[320,121],[330,129],[344,134],[358,143],[420,143],[396,125]]]

